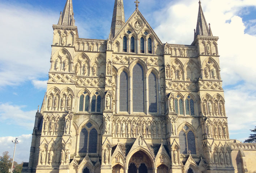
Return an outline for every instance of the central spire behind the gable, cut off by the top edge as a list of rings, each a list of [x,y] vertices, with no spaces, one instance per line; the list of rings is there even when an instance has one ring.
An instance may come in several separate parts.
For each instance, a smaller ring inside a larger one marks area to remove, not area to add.
[[[110,36],[113,38],[124,26],[124,3],[123,0],[115,0]],[[110,38],[111,39],[111,38]]]

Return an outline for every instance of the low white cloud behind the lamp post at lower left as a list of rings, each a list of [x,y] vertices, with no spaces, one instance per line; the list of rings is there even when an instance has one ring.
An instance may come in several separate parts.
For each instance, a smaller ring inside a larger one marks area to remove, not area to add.
[[[0,137],[0,155],[3,152],[8,151],[11,158],[13,157],[14,151],[14,143],[12,141],[16,137],[7,136],[7,137]],[[17,161],[20,164],[22,161],[28,162],[29,161],[29,154],[30,154],[30,146],[31,146],[31,134],[22,134],[21,136],[17,137],[19,143],[16,145],[16,151],[14,156],[14,161]]]

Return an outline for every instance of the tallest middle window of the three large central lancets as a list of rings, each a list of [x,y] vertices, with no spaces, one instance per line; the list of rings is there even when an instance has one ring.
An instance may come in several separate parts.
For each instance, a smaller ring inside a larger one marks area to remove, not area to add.
[[[144,70],[139,63],[132,70],[132,107],[133,112],[144,112]]]

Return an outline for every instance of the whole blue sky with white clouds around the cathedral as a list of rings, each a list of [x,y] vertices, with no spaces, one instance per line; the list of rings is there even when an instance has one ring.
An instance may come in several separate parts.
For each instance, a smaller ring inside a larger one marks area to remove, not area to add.
[[[37,106],[42,104],[50,68],[52,24],[66,0],[0,0],[0,152],[28,161]],[[135,10],[124,0],[125,19]],[[246,139],[256,126],[256,1],[202,0],[206,21],[219,36],[221,77],[225,89],[230,138]],[[107,39],[114,0],[73,0],[78,34]],[[140,0],[139,9],[163,43],[191,44],[197,0]],[[26,156],[26,157],[25,157]]]

